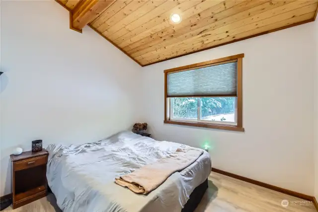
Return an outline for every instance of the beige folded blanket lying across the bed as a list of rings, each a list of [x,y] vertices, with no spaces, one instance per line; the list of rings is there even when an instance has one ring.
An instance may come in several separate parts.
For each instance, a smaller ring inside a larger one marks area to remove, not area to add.
[[[177,149],[168,157],[116,178],[115,183],[127,187],[137,194],[146,195],[158,188],[174,172],[181,171],[191,165],[202,154],[203,150],[200,149]]]

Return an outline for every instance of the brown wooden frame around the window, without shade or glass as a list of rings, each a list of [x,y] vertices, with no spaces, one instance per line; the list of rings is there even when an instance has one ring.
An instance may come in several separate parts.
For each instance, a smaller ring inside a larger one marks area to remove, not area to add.
[[[202,63],[195,63],[191,65],[181,66],[177,68],[164,70],[164,123],[167,124],[178,124],[185,126],[196,126],[214,129],[225,129],[234,131],[244,131],[242,126],[242,58],[244,54],[233,55],[229,57],[219,58],[215,60],[210,60]],[[218,65],[222,63],[231,62],[237,60],[237,125],[226,125],[226,124],[216,124],[216,123],[203,123],[203,122],[191,122],[191,121],[180,121],[180,120],[170,120],[170,101],[167,101],[167,76],[170,72],[187,71],[197,68],[202,68],[210,65]]]

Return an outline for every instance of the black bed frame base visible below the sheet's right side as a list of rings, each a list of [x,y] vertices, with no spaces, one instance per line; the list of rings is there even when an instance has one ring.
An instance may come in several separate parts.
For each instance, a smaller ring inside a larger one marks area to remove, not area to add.
[[[194,212],[194,210],[198,207],[199,203],[201,202],[205,191],[208,188],[208,179],[206,179],[202,184],[196,187],[192,194],[190,195],[190,199],[184,205],[184,208],[181,212]]]

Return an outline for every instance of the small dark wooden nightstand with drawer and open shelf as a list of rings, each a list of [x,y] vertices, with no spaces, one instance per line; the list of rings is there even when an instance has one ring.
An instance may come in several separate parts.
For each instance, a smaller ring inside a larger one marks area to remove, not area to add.
[[[16,209],[47,195],[46,164],[49,153],[22,152],[10,155],[12,208]]]

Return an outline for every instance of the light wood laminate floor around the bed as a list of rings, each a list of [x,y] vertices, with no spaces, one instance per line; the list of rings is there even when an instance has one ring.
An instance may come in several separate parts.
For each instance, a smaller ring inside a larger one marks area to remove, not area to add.
[[[316,212],[314,205],[281,206],[282,200],[303,201],[279,192],[212,172],[209,188],[195,212]],[[61,212],[54,195],[5,212]]]

